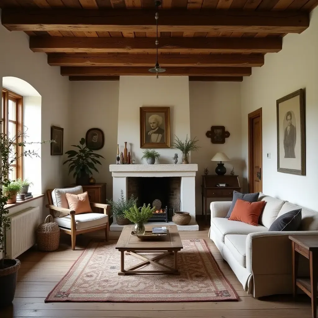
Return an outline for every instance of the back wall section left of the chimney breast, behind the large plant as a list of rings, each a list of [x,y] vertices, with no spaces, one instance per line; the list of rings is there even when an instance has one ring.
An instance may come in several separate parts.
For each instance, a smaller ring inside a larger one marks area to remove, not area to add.
[[[78,145],[90,128],[100,128],[105,135],[104,147],[95,152],[104,156],[93,176],[97,183],[107,183],[106,196],[112,198],[113,178],[109,165],[116,163],[119,81],[79,81],[70,85],[70,145]],[[69,176],[74,183],[73,175]]]

